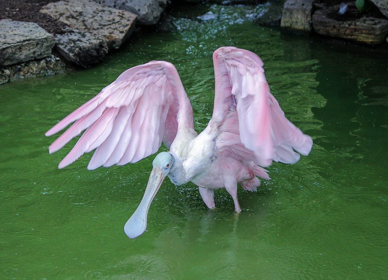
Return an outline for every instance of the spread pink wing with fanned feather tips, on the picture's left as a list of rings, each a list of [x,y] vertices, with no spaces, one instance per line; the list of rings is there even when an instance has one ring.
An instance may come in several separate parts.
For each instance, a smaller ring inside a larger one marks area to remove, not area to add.
[[[174,65],[151,61],[124,71],[94,98],[65,117],[46,136],[74,122],[49,147],[61,149],[86,131],[59,163],[63,168],[94,149],[88,169],[124,165],[170,147],[179,127],[193,127],[192,108]]]

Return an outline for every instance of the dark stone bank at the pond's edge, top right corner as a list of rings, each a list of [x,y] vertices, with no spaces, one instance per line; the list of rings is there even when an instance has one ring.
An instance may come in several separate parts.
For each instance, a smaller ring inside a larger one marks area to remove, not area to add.
[[[365,2],[368,9],[360,11],[355,1],[349,0],[287,0],[281,29],[368,45],[388,43],[388,0]]]

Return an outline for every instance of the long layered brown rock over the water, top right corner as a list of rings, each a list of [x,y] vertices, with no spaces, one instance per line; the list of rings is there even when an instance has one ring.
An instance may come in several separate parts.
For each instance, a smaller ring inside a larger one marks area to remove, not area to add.
[[[314,12],[312,22],[314,31],[319,34],[349,39],[370,45],[381,44],[388,35],[388,20],[360,15],[353,20],[341,21],[338,15],[340,5],[334,5]],[[348,12],[357,12],[349,5]]]

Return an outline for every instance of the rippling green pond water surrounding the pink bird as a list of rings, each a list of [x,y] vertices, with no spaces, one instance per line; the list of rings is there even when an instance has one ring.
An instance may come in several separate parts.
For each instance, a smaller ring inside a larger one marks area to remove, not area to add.
[[[0,279],[388,278],[388,59],[257,26],[264,8],[178,9],[175,30],[134,37],[102,64],[0,86]],[[238,215],[224,189],[208,210],[193,184],[166,180],[148,231],[128,239],[153,156],[88,171],[87,154],[58,170],[75,141],[49,155],[55,137],[44,132],[123,70],[156,59],[177,67],[201,131],[211,54],[224,45],[262,58],[312,152],[271,165],[257,193],[240,188]]]

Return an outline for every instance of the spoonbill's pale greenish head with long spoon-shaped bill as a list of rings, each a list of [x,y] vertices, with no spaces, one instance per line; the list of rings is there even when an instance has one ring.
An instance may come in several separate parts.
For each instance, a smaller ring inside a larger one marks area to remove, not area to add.
[[[142,201],[124,226],[124,232],[128,237],[138,237],[145,231],[149,206],[166,175],[170,172],[173,163],[174,159],[168,152],[159,153],[152,161],[152,171]]]

